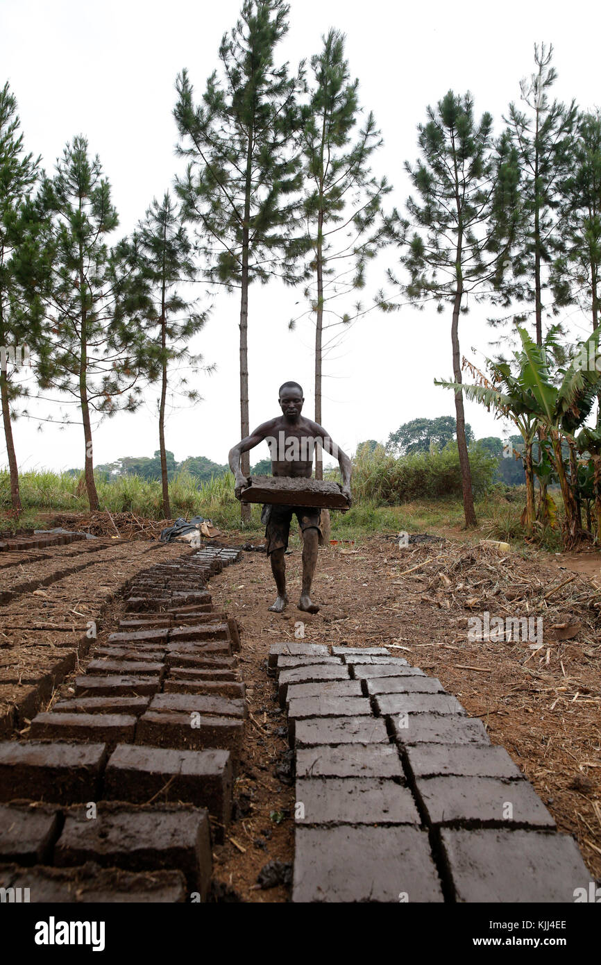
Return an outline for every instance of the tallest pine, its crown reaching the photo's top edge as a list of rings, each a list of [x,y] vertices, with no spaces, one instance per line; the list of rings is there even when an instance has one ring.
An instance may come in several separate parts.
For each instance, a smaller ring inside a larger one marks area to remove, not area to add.
[[[252,282],[297,280],[294,247],[300,161],[295,147],[298,77],[274,66],[287,33],[284,0],[244,0],[240,19],[219,48],[214,71],[194,104],[187,70],[178,75],[174,114],[178,153],[189,158],[178,178],[184,214],[198,229],[206,277],[240,290],[240,424],[249,434],[248,304]],[[248,453],[242,472],[250,472]],[[250,507],[241,504],[243,520]]]

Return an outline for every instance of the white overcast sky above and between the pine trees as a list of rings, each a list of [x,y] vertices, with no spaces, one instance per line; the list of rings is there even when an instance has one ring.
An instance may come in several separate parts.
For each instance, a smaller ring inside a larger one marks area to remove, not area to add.
[[[218,66],[217,50],[235,22],[240,0],[0,0],[0,83],[17,98],[27,150],[41,154],[48,172],[65,143],[85,134],[100,156],[120,214],[115,240],[128,234],[153,196],[172,184],[178,160],[172,111],[175,79],[187,67],[197,94]],[[488,110],[496,130],[519,80],[533,70],[534,41],[551,41],[559,80],[555,96],[575,97],[582,107],[601,102],[599,14],[596,5],[505,0],[503,4],[429,0],[291,0],[290,29],[278,61],[294,66],[321,45],[331,27],[346,35],[351,76],[360,80],[361,103],[374,111],[384,147],[374,162],[395,185],[402,206],[408,185],[405,159],[417,156],[416,125],[428,103],[452,88],[470,90],[478,116]],[[387,255],[394,261],[394,255]],[[374,277],[365,292],[383,283]],[[251,427],[277,414],[277,390],[294,379],[305,388],[306,414],[314,414],[313,328],[296,332],[288,319],[300,291],[278,285],[250,292],[249,372]],[[462,352],[481,361],[487,340],[486,307],[461,321]],[[583,319],[572,317],[572,322]],[[219,295],[195,348],[217,372],[199,379],[205,401],[172,413],[167,444],[177,459],[206,455],[226,462],[240,435],[238,402],[238,297]],[[451,376],[450,319],[433,309],[370,313],[326,364],[323,424],[342,449],[385,441],[389,432],[418,416],[453,413],[451,393],[432,384]],[[135,415],[121,414],[96,428],[95,462],[122,455],[152,455],[158,447],[152,393]],[[475,403],[466,403],[477,437],[500,435],[502,425]],[[81,427],[19,420],[14,426],[22,469],[64,469],[83,464]],[[0,465],[6,451],[0,444]],[[267,455],[259,449],[255,461]]]

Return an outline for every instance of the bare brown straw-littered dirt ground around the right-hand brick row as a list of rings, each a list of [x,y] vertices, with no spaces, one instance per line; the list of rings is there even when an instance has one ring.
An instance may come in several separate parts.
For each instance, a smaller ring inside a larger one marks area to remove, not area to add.
[[[504,557],[451,539],[400,550],[394,539],[375,537],[356,542],[354,549],[320,551],[313,595],[322,609],[311,616],[296,609],[301,550],[297,540],[290,546],[290,603],[282,616],[267,610],[275,593],[263,554],[244,554],[240,564],[210,584],[216,606],[240,623],[241,673],[250,710],[268,733],[249,729],[247,771],[238,789],[250,795],[250,808],[232,831],[245,850],[232,841],[220,849],[216,874],[224,884],[245,901],[286,898],[282,888],[254,889],[266,861],[290,862],[293,854],[292,788],[274,776],[286,738],[278,734],[279,715],[270,715],[278,705],[265,658],[271,644],[298,639],[298,621],[306,642],[396,648],[437,676],[470,715],[480,718],[493,743],[505,747],[560,831],[576,838],[598,877],[601,628],[596,605],[601,597],[587,578],[558,570],[551,558],[543,565],[513,551]],[[558,589],[571,575],[571,582]],[[528,641],[470,641],[468,620],[483,611],[491,618],[542,616],[543,647],[534,650]],[[280,824],[274,813],[284,813]],[[254,842],[265,828],[272,836],[263,849]]]

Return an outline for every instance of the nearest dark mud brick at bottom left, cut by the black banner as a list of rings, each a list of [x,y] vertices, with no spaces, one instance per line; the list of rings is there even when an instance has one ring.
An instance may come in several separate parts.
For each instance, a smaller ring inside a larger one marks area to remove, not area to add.
[[[122,871],[99,868],[0,868],[1,888],[28,888],[33,904],[108,904],[112,902],[186,901],[188,891],[181,871]]]

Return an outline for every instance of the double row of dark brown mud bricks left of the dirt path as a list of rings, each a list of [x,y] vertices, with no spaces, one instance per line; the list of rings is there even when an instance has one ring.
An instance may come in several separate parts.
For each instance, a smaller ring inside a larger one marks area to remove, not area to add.
[[[0,743],[6,894],[205,900],[246,716],[237,624],[205,587],[239,556],[207,547],[139,573],[73,699]]]

